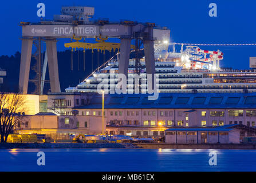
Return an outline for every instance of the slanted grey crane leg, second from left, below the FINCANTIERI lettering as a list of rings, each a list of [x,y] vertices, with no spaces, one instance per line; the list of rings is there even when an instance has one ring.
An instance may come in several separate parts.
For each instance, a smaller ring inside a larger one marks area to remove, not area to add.
[[[46,50],[48,57],[48,68],[50,75],[50,89],[51,92],[60,92],[60,81],[58,78],[58,58],[56,40],[46,40]]]

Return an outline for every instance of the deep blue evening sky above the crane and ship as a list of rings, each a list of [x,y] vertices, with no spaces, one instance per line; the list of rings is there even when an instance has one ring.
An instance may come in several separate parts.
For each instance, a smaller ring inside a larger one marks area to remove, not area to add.
[[[85,5],[95,7],[94,18],[135,19],[139,22],[155,22],[171,30],[171,40],[183,43],[256,43],[256,1],[251,0],[109,0],[109,1],[2,1],[0,6],[1,49],[0,55],[11,55],[21,51],[20,21],[36,22],[37,3],[45,3],[46,19],[60,14],[62,5]],[[209,17],[208,5],[214,2],[218,17]],[[64,50],[64,42],[58,50]],[[239,69],[249,68],[249,57],[256,57],[256,46],[206,47],[206,50],[223,51],[221,65]],[[180,47],[176,47],[176,50]]]

